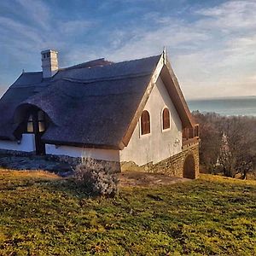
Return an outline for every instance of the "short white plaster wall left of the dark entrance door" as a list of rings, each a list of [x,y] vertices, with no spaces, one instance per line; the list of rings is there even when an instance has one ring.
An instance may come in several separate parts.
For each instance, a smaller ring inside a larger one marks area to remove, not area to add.
[[[24,152],[35,151],[35,136],[34,134],[23,134],[20,143],[17,143],[16,141],[0,141],[0,148]]]

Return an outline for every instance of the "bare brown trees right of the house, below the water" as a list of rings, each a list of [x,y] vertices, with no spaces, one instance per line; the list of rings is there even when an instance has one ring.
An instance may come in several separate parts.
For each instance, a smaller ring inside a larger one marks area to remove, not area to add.
[[[201,165],[207,172],[246,178],[256,170],[256,118],[193,112],[200,124]]]

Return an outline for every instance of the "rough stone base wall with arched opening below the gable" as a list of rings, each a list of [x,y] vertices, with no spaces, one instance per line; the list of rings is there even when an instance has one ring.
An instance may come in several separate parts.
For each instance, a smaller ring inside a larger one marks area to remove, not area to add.
[[[144,166],[137,166],[132,162],[122,162],[121,171],[157,172],[172,177],[184,177],[184,163],[189,155],[192,155],[195,160],[195,170],[191,171],[193,172],[193,178],[196,178],[199,176],[199,143],[184,146],[181,153],[175,154],[172,157],[162,160],[156,164],[151,162]]]

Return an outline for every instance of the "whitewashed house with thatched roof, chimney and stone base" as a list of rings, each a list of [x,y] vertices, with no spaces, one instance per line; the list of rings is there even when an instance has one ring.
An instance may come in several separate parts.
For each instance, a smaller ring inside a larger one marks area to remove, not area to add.
[[[55,50],[41,55],[43,72],[21,73],[0,100],[1,152],[197,177],[198,125],[166,50],[67,68]]]

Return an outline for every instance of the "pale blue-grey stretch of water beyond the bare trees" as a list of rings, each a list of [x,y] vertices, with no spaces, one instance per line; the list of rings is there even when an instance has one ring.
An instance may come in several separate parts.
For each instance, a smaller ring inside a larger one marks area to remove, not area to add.
[[[188,101],[190,111],[215,112],[221,115],[256,116],[256,96],[226,97]]]

